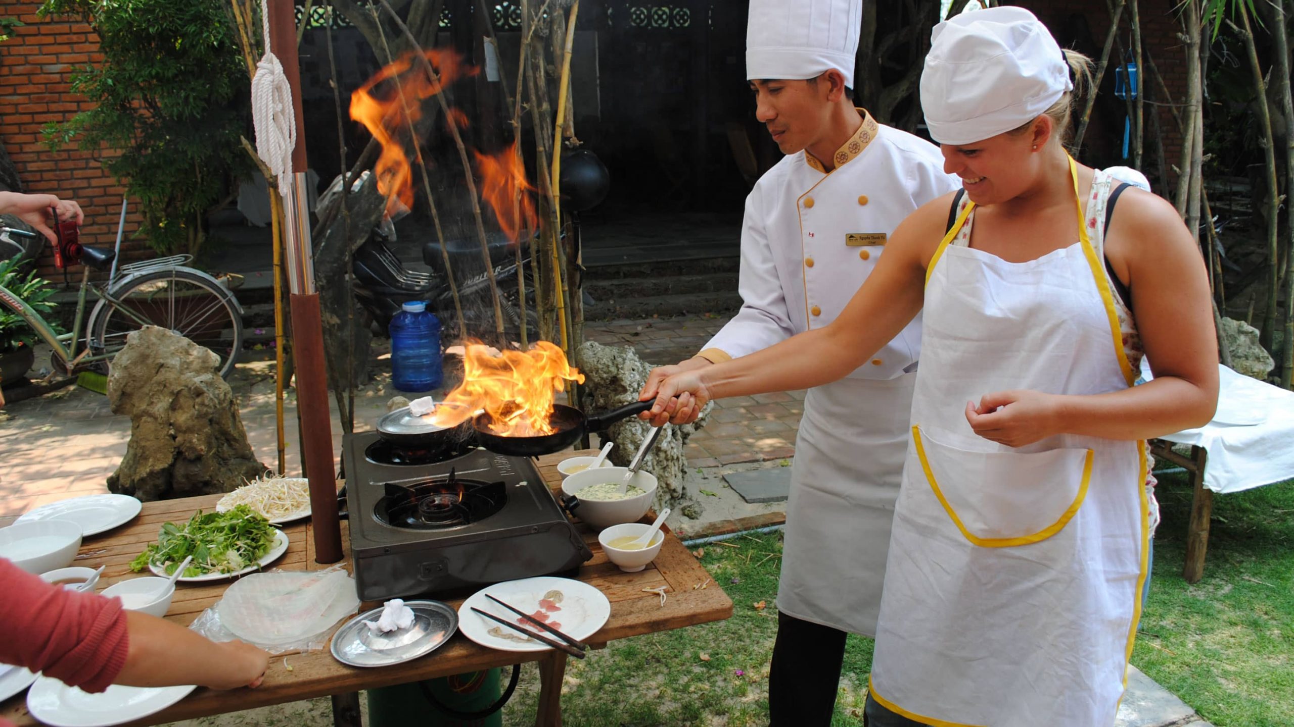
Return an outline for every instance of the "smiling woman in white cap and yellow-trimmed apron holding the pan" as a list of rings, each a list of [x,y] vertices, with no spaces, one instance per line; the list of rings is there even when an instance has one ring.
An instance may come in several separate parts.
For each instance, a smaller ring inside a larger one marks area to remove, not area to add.
[[[1218,401],[1207,276],[1171,204],[1069,158],[1087,62],[1031,13],[932,38],[921,106],[964,194],[905,220],[833,323],[674,373],[652,415],[848,376],[921,313],[867,719],[1112,727],[1149,555],[1144,440]],[[1156,376],[1134,387],[1143,356]]]

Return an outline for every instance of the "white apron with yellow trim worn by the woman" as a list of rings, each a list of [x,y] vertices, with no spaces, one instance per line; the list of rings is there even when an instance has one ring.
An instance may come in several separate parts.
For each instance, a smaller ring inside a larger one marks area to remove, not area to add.
[[[949,244],[972,208],[927,274],[872,697],[925,724],[1108,727],[1145,577],[1143,445],[1058,435],[1013,449],[964,413],[1007,389],[1131,385],[1101,251],[1080,207],[1079,242],[1027,263]]]

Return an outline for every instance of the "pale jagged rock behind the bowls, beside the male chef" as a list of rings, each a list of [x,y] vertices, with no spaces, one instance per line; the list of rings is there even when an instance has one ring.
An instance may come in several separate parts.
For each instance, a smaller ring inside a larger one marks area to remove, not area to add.
[[[576,351],[576,362],[580,373],[585,375],[584,407],[593,414],[638,401],[638,392],[647,383],[647,374],[652,369],[638,358],[633,348],[602,345],[594,342],[587,342]],[[683,454],[683,446],[687,445],[692,432],[705,426],[705,415],[712,406],[707,404],[701,417],[692,424],[670,426],[643,461],[643,470],[656,475],[656,480],[660,481],[656,489],[657,507],[677,510],[679,506],[696,505],[683,490],[683,479],[687,473],[687,455]],[[608,458],[617,466],[628,466],[650,432],[651,424],[637,417],[616,422],[607,433],[608,439],[616,442]]]

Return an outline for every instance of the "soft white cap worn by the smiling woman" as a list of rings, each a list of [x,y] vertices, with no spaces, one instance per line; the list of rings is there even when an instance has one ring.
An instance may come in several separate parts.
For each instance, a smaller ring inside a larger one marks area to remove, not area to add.
[[[1073,88],[1047,26],[1024,8],[989,8],[934,26],[921,110],[932,138],[970,144],[1034,120]]]

